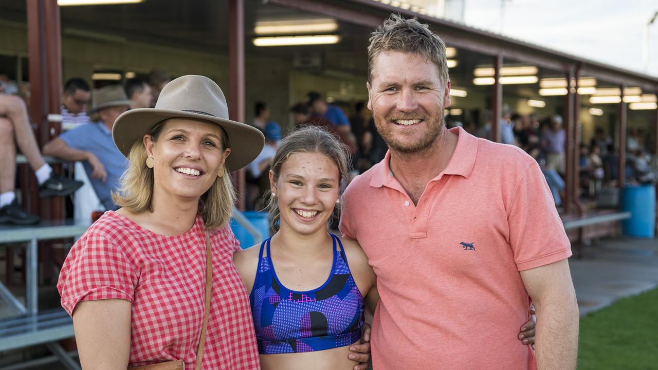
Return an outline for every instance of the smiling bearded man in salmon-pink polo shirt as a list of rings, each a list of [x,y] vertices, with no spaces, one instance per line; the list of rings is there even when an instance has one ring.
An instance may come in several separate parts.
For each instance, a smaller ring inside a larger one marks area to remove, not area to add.
[[[368,61],[390,151],[348,186],[340,229],[377,274],[374,368],[575,369],[570,245],[537,163],[445,128],[445,44],[426,25],[392,16]],[[536,352],[517,340],[531,301]]]

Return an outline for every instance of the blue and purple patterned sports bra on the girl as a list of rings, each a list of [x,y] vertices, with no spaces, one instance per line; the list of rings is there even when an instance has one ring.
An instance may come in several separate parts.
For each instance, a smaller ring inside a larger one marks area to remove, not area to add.
[[[347,266],[340,238],[330,235],[334,249],[331,274],[320,288],[307,292],[290,290],[279,282],[270,259],[271,238],[261,244],[249,296],[260,354],[328,350],[349,346],[361,338],[363,297]]]

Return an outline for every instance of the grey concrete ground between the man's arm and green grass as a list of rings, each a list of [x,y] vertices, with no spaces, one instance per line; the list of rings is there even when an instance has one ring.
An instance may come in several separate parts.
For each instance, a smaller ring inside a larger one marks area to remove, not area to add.
[[[569,265],[580,315],[586,315],[658,286],[658,239],[604,239],[584,246]]]

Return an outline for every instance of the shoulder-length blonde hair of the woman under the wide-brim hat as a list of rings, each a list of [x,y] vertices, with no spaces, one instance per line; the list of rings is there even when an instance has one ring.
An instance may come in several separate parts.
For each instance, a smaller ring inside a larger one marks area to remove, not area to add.
[[[147,133],[151,135],[154,142],[164,126],[163,120]],[[222,150],[228,147],[228,137],[222,129]],[[146,148],[143,142],[138,141],[132,145],[128,154],[128,169],[120,178],[120,185],[116,192],[112,192],[112,199],[119,207],[125,207],[133,213],[145,211],[153,212],[153,169],[146,167]],[[226,164],[224,164],[226,166]],[[199,213],[203,218],[206,230],[220,228],[231,218],[236,194],[229,176],[229,169],[225,168],[226,174],[218,177],[210,189],[199,198]]]

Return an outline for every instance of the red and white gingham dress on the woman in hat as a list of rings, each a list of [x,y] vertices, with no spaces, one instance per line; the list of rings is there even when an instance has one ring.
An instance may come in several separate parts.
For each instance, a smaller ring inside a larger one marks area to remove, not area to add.
[[[71,315],[83,300],[132,303],[130,366],[182,359],[194,369],[205,294],[203,219],[178,236],[106,212],[71,248],[57,288]],[[229,226],[211,233],[213,295],[203,369],[259,369],[247,290],[233,265]]]

